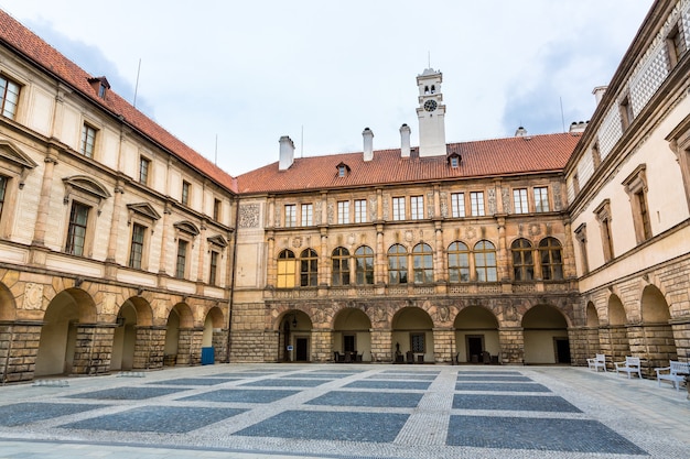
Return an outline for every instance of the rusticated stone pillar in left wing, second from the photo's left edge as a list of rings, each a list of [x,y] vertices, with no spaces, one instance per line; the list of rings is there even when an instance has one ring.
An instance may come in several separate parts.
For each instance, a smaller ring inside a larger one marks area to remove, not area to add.
[[[110,371],[115,324],[77,324],[73,374],[104,374]]]

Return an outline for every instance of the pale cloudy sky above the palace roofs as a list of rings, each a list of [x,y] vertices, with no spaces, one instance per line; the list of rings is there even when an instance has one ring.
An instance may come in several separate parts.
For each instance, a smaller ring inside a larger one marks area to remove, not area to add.
[[[446,142],[591,118],[651,0],[0,0],[0,8],[233,176],[418,145],[417,76],[443,73]]]

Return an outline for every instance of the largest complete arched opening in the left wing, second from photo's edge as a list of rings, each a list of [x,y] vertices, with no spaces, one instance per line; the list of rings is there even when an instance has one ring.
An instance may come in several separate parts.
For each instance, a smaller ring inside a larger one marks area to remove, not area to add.
[[[55,295],[43,316],[34,375],[87,372],[88,362],[75,359],[80,353],[77,331],[82,325],[94,324],[96,316],[96,304],[85,291],[67,288]]]

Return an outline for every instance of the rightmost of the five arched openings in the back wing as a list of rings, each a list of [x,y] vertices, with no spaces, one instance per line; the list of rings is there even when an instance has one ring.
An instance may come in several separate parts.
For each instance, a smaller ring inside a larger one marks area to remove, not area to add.
[[[525,363],[570,363],[568,318],[557,307],[539,304],[522,316]]]

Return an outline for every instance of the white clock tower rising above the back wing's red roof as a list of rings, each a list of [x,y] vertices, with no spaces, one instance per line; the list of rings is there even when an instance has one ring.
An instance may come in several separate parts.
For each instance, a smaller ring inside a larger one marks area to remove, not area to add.
[[[417,76],[419,87],[419,156],[445,156],[445,106],[441,94],[443,75],[427,68]]]

